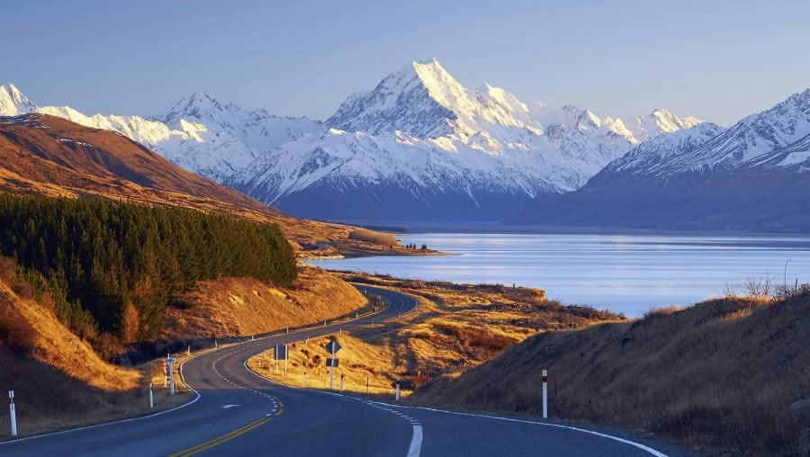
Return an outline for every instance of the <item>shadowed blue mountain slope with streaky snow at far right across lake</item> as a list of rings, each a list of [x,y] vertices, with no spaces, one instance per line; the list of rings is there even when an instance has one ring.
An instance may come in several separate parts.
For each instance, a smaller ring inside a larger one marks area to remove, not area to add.
[[[572,193],[515,219],[638,228],[810,228],[810,89],[729,129],[702,123],[641,143]]]

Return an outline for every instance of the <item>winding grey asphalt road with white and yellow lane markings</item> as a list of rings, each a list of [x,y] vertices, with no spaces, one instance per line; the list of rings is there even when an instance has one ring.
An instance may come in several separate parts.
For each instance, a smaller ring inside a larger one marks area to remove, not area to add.
[[[268,336],[201,354],[182,366],[198,396],[165,413],[0,443],[0,455],[681,455],[617,430],[526,417],[407,408],[275,384],[247,370],[276,344],[361,327],[416,306],[400,293],[359,287],[390,305],[374,317]],[[338,354],[339,356],[339,354]],[[336,378],[337,381],[337,378]],[[337,387],[337,386],[336,386]]]

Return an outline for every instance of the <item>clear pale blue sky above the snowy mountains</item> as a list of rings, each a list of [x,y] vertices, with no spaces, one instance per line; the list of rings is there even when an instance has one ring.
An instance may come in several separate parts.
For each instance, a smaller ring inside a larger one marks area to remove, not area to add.
[[[152,114],[195,91],[322,119],[411,60],[600,116],[729,125],[810,86],[810,2],[14,2],[0,81]]]

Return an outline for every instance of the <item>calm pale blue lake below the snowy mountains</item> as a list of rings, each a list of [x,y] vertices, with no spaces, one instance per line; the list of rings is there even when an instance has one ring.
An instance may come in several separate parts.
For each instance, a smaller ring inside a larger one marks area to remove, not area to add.
[[[810,237],[426,233],[400,237],[454,255],[311,262],[401,278],[499,282],[545,289],[567,304],[639,316],[653,306],[692,304],[743,292],[747,278],[810,282]]]

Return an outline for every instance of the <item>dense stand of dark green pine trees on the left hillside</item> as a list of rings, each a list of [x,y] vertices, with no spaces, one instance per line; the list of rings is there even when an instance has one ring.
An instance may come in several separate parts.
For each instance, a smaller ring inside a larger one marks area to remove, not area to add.
[[[47,289],[80,334],[155,336],[195,282],[249,276],[290,286],[293,249],[275,225],[176,207],[0,194],[0,255]],[[40,279],[37,279],[40,278]]]

